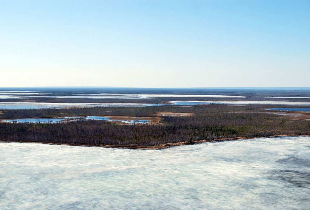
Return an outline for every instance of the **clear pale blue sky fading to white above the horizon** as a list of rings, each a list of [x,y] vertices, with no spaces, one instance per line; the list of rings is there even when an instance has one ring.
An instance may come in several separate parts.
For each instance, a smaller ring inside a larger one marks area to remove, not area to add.
[[[0,1],[13,86],[310,86],[310,1]]]

